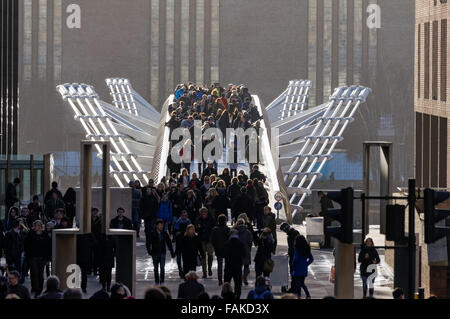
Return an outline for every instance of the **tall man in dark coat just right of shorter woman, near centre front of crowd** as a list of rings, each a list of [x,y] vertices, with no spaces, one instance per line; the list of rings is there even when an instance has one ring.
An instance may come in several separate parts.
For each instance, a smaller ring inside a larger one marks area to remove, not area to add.
[[[200,217],[198,217],[195,222],[195,229],[197,230],[198,237],[202,243],[202,249],[206,254],[205,258],[202,259],[203,278],[212,276],[214,247],[211,244],[211,232],[215,224],[214,218],[208,213],[208,209],[205,207],[200,209]],[[208,269],[206,269],[206,257],[208,258]],[[207,270],[208,272],[206,272]]]

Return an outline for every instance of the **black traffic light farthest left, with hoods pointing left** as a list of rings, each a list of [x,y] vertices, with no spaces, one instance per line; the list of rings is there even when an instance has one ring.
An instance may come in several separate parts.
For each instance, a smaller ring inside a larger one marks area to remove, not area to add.
[[[339,239],[342,243],[353,243],[353,188],[349,187],[340,192],[328,192],[328,198],[341,205],[340,209],[328,209],[326,215],[337,220],[340,226],[328,226],[327,235]]]

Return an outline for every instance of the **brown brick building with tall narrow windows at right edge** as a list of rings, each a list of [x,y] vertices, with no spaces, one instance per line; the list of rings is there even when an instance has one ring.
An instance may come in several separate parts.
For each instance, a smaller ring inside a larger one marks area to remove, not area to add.
[[[449,179],[449,50],[447,0],[416,0],[415,22],[415,175],[419,187],[447,189]],[[448,208],[447,208],[448,209]],[[416,221],[419,230],[423,221]],[[423,234],[419,234],[423,238]],[[421,284],[428,294],[450,296],[450,236],[447,243],[421,242]],[[444,250],[447,260],[430,262]],[[445,252],[445,250],[447,250]]]

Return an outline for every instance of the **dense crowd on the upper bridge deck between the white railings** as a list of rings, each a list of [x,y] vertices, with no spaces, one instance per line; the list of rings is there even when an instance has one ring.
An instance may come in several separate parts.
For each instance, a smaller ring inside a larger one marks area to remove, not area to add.
[[[244,85],[229,84],[227,89],[216,83],[211,86],[198,86],[194,83],[180,84],[177,86],[174,93],[174,100],[168,107],[170,119],[167,126],[172,133],[177,128],[189,130],[191,139],[186,143],[191,144],[191,157],[187,158],[183,151],[180,151],[182,156],[182,163],[175,163],[172,160],[171,154],[168,157],[168,166],[171,172],[179,172],[180,168],[184,167],[190,170],[191,163],[196,161],[194,158],[195,143],[192,143],[194,137],[194,125],[198,123],[199,129],[202,133],[202,146],[210,141],[206,138],[205,132],[210,128],[216,128],[221,132],[224,141],[226,139],[226,131],[228,128],[243,129],[254,128],[252,135],[246,138],[245,154],[237,154],[237,136],[231,142],[231,148],[234,150],[232,163],[228,163],[230,171],[233,176],[237,175],[238,160],[242,156],[249,162],[250,167],[259,162],[259,152],[256,156],[250,156],[250,143],[259,148],[260,128],[262,116],[258,111],[257,106],[252,103],[253,99],[249,90]],[[200,127],[201,126],[201,127]],[[213,136],[214,140],[217,136]],[[171,142],[171,141],[170,141]],[[259,149],[258,149],[259,150]],[[203,155],[203,154],[202,154]],[[239,155],[239,157],[238,157]],[[251,161],[255,159],[255,161]],[[201,172],[201,165],[205,167],[208,160],[213,162],[214,167],[217,166],[216,159],[208,159],[206,156],[201,156],[198,161],[198,172]]]

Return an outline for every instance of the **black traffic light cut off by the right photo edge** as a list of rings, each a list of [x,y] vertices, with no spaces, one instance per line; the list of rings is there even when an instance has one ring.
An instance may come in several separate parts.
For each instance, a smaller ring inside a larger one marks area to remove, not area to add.
[[[425,243],[432,244],[450,234],[450,227],[436,226],[436,223],[450,216],[450,210],[436,209],[435,206],[450,198],[450,192],[424,191]]]

